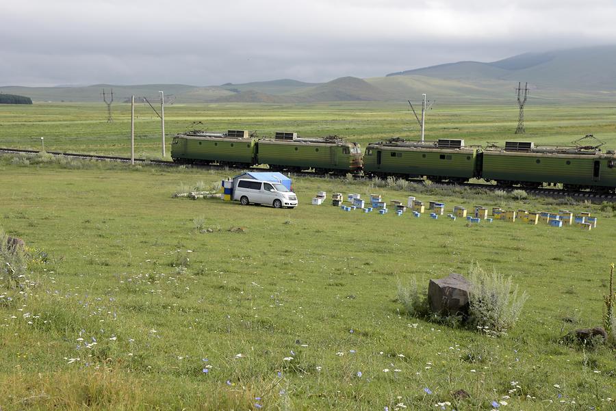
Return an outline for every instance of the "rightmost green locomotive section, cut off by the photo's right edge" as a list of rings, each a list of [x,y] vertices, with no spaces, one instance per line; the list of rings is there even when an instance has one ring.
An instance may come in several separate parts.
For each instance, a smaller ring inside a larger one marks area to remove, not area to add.
[[[598,146],[535,146],[506,142],[483,153],[482,176],[501,185],[540,187],[563,184],[564,189],[612,191],[616,187],[616,155]]]

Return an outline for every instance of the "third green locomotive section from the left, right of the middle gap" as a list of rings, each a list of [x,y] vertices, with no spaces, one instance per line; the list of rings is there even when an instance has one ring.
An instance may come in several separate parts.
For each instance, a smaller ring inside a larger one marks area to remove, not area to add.
[[[368,176],[414,178],[461,183],[480,173],[480,148],[464,140],[409,142],[395,137],[365,149],[363,170]]]

